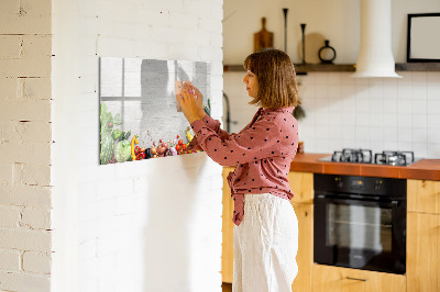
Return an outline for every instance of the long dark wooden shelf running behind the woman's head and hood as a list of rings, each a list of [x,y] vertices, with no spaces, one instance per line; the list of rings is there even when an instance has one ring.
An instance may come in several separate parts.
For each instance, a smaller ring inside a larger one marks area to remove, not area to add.
[[[354,72],[355,64],[295,64],[298,75],[307,72]],[[242,65],[224,65],[224,72],[244,71]],[[440,71],[440,63],[398,63],[396,71]]]

